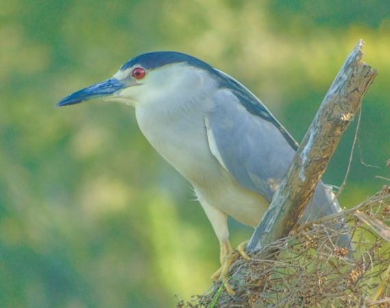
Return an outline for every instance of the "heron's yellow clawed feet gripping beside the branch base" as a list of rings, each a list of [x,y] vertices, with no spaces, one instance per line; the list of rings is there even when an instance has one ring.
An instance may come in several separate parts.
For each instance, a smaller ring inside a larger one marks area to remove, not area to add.
[[[229,269],[231,267],[231,264],[233,264],[234,261],[236,261],[239,256],[241,255],[242,258],[246,261],[250,259],[250,257],[246,254],[244,251],[246,248],[246,244],[248,244],[248,241],[242,242],[237,246],[237,249],[230,250],[229,253],[224,255],[221,259],[222,266],[211,276],[212,281],[217,281],[218,279],[222,280],[224,283],[224,287],[226,289],[226,292],[228,292],[231,295],[235,295],[235,291],[231,287],[229,281],[228,281],[228,273]]]

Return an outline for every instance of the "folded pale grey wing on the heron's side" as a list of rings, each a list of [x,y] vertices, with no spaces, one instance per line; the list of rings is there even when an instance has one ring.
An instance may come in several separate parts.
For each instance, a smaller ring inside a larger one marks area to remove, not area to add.
[[[248,112],[231,90],[218,90],[213,102],[206,117],[211,152],[240,185],[270,202],[294,149],[276,125]]]

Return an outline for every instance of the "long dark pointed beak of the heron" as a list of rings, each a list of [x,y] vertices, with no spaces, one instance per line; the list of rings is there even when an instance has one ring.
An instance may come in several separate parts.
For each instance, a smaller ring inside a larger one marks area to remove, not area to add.
[[[83,90],[79,90],[73,94],[70,94],[68,97],[65,97],[60,102],[58,102],[56,106],[62,107],[83,103],[84,101],[105,99],[111,97],[114,92],[122,88],[125,88],[125,85],[118,81],[118,79],[107,79],[103,82],[100,82],[99,84],[94,84],[88,88],[84,88]]]

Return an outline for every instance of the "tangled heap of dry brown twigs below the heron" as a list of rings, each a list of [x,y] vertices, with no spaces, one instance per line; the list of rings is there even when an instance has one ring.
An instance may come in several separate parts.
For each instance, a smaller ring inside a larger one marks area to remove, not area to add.
[[[354,251],[333,239],[346,230]],[[301,226],[229,272],[235,296],[216,282],[177,307],[390,307],[390,186],[343,214]]]

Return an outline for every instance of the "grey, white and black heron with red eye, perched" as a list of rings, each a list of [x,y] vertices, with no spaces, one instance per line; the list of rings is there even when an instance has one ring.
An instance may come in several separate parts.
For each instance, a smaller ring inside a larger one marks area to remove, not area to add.
[[[135,108],[148,142],[194,188],[220,244],[222,267],[213,279],[220,277],[234,294],[226,278],[233,251],[227,218],[257,227],[294,158],[296,140],[239,81],[176,51],[133,57],[112,78],[68,95],[57,106],[86,101]],[[298,223],[338,212],[335,195],[320,181]],[[349,241],[346,235],[341,245]],[[239,252],[247,258],[244,248],[240,245]]]

